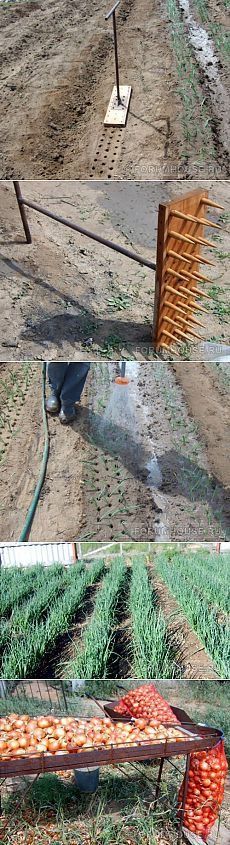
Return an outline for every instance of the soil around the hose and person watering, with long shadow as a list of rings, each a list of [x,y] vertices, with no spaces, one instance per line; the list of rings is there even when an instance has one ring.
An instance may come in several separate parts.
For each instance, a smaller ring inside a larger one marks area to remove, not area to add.
[[[41,366],[26,389],[25,368],[1,365],[1,540],[19,539],[42,456]],[[228,538],[229,365],[130,363],[126,388],[116,372],[91,366],[71,427],[49,418],[30,539]]]

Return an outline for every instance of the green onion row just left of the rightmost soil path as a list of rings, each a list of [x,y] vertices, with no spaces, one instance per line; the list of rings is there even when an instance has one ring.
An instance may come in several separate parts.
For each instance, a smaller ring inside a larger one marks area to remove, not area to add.
[[[154,607],[145,559],[134,558],[129,598],[132,669],[136,678],[172,678],[177,672],[163,614]]]

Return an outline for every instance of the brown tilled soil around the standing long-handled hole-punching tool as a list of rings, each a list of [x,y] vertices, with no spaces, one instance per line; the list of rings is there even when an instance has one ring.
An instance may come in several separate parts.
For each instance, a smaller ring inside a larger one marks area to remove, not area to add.
[[[122,0],[126,128],[104,131],[114,83],[107,0],[1,2],[1,178],[229,176],[225,0]]]

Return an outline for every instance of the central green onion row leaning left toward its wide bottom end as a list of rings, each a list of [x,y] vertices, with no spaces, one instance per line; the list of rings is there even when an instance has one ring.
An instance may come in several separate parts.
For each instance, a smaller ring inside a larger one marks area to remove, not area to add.
[[[126,572],[126,565],[122,558],[115,558],[103,580],[92,617],[82,635],[79,650],[65,666],[65,677],[106,677],[109,656],[113,648],[115,613]]]

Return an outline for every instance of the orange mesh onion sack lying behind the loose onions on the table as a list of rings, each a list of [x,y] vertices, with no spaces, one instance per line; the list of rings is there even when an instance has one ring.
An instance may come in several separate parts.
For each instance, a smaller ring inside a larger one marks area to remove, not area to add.
[[[154,684],[142,684],[120,699],[115,707],[118,713],[136,718],[155,719],[162,722],[178,722],[170,705],[157,691]]]

